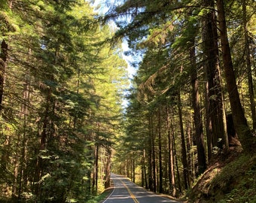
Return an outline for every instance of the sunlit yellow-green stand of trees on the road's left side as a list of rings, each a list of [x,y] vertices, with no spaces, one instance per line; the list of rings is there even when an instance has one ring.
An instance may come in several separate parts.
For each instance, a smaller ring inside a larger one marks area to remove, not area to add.
[[[86,202],[110,184],[126,62],[90,2],[0,1],[0,201]]]

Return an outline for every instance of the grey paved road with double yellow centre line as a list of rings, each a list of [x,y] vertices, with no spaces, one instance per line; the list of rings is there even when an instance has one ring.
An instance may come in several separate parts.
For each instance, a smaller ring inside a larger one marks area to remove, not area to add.
[[[144,188],[131,182],[127,177],[121,175],[111,174],[111,179],[114,181],[114,190],[111,195],[109,195],[108,198],[103,201],[103,203],[181,202],[161,197],[153,192],[148,192]]]

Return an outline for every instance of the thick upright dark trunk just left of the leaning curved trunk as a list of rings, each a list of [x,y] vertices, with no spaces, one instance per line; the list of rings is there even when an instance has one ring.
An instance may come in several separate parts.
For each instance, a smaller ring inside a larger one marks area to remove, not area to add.
[[[206,57],[205,68],[209,91],[209,119],[212,123],[212,147],[228,147],[227,129],[224,123],[224,102],[221,92],[221,73],[219,68],[218,32],[214,11],[214,0],[205,0],[204,5],[210,8],[205,17],[203,44]]]

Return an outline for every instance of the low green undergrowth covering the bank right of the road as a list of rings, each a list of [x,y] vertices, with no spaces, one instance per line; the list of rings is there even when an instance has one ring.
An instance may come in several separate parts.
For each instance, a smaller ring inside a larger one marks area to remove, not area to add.
[[[242,155],[226,165],[212,180],[216,202],[254,202],[256,156]],[[211,190],[210,190],[211,191]]]

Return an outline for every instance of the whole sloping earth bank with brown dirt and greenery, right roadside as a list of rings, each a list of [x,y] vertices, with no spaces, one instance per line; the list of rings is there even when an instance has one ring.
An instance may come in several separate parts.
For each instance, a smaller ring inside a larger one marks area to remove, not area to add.
[[[188,192],[189,202],[256,203],[256,154],[220,153]]]

